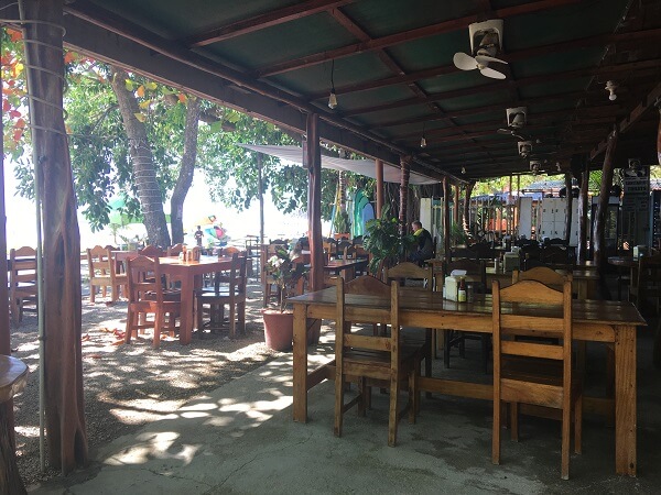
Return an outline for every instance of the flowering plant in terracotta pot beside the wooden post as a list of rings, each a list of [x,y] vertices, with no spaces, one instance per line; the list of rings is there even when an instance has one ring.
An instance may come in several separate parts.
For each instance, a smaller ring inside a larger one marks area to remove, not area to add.
[[[278,307],[262,309],[264,341],[275,351],[289,351],[292,348],[294,314],[288,309],[286,298],[306,272],[303,263],[295,263],[296,257],[295,251],[283,245],[264,265],[264,276],[268,274],[279,288]]]

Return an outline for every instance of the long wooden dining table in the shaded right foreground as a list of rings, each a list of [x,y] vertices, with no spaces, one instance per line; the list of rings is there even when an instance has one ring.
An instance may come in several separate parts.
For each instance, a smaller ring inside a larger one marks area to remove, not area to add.
[[[334,363],[308,373],[306,329],[318,319],[336,317],[335,287],[307,293],[289,299],[294,307],[293,345],[293,419],[307,421],[307,391],[335,376]],[[473,302],[456,302],[442,298],[441,293],[412,293],[401,288],[400,321],[404,327],[454,329],[492,332],[491,296],[478,295]],[[376,323],[378,309],[389,300],[377,296],[347,295],[347,319]],[[516,314],[539,316],[541,308],[511,305]],[[544,309],[552,311],[551,309]],[[630,302],[575,299],[572,301],[573,336],[577,341],[613,343],[615,346],[615,386],[611,397],[585,397],[584,411],[615,416],[616,472],[636,475],[636,329],[646,326],[638,309]],[[431,331],[431,330],[430,330]],[[420,389],[445,395],[492,400],[492,385],[420,377]]]

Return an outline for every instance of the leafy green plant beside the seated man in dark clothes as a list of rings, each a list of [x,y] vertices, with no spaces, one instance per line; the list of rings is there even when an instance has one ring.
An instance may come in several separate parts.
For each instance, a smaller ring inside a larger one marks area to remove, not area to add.
[[[380,278],[379,266],[392,266],[403,257],[408,249],[415,243],[413,234],[403,238],[399,234],[399,221],[389,217],[389,209],[384,208],[381,218],[368,221],[365,224],[364,248],[371,254],[369,271]]]

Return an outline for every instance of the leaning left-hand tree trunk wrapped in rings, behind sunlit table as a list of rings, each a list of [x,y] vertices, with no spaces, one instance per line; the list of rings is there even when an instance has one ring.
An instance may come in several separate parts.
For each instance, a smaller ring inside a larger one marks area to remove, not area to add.
[[[147,129],[136,118],[137,114],[140,114],[138,101],[133,94],[126,88],[128,77],[126,72],[112,66],[112,77],[110,79],[129,138],[129,153],[133,162],[133,177],[138,188],[138,198],[142,205],[148,242],[167,248],[170,245],[170,233],[163,212],[161,187],[156,180],[156,170],[149,138],[147,136]]]

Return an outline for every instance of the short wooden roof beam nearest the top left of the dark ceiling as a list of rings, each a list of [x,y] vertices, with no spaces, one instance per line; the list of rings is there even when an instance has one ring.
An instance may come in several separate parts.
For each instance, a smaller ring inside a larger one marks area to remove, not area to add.
[[[231,24],[205,31],[204,33],[193,34],[192,36],[186,37],[184,43],[192,47],[206,46],[210,45],[212,43],[230,40],[242,34],[252,33],[254,31],[271,28],[273,25],[302,19],[307,15],[336,9],[355,1],[356,0],[308,0],[303,3],[273,10],[253,18],[242,19]]]

